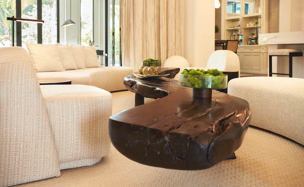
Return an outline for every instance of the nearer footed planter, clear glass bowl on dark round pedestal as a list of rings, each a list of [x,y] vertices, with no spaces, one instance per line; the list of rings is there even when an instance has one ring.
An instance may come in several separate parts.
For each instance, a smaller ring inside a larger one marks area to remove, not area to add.
[[[228,76],[202,76],[179,74],[178,84],[193,88],[193,96],[201,98],[212,97],[212,89],[227,88]]]

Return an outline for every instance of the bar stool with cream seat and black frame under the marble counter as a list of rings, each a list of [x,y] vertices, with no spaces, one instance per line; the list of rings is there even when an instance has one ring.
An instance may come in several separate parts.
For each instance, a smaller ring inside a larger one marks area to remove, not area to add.
[[[289,74],[285,73],[272,73],[272,57],[273,56],[289,56]],[[302,57],[303,52],[299,49],[276,49],[269,51],[269,77],[272,77],[272,74],[278,75],[289,75],[292,77],[292,57]]]

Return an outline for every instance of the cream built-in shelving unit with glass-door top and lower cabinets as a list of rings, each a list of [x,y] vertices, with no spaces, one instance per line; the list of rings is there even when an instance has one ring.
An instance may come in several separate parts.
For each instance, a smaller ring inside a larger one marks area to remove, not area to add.
[[[227,4],[227,1],[230,4]],[[245,5],[247,9],[245,9]],[[247,27],[247,23],[250,22],[258,22],[259,25]],[[222,0],[221,24],[222,40],[230,40],[230,35],[235,30],[242,35],[243,45],[239,45],[237,48],[240,71],[243,73],[267,74],[267,46],[245,44],[248,42],[251,33],[254,33],[254,35],[268,33],[268,0]],[[240,28],[230,28],[238,25],[240,25]]]

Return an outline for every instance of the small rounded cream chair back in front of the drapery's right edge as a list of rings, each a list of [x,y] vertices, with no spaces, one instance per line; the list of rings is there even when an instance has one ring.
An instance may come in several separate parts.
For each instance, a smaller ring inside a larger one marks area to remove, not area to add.
[[[189,62],[181,56],[171,56],[163,64],[163,68],[180,68],[179,73],[183,71],[184,68],[189,67]],[[176,74],[174,79],[178,80],[179,74]]]

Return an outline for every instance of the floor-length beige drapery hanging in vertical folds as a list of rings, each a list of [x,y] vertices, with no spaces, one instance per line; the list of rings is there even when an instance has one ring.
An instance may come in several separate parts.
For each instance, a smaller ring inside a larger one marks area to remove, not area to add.
[[[147,58],[182,56],[181,0],[121,0],[122,63],[138,70]]]

